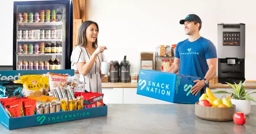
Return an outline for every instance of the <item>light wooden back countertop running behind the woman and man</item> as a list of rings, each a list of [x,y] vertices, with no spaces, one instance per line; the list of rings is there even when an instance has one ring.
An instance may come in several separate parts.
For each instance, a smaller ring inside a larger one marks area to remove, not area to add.
[[[121,87],[121,88],[129,88],[134,87],[137,88],[138,83],[102,83],[103,88],[115,88],[115,87]],[[244,85],[245,88],[255,88],[256,89],[256,82],[247,83],[245,82]],[[215,84],[209,84],[209,88],[230,88],[228,84],[221,84],[221,83],[215,83]]]

